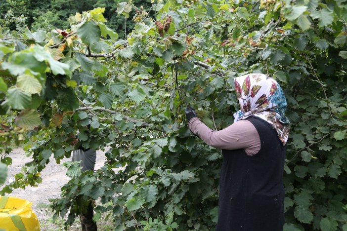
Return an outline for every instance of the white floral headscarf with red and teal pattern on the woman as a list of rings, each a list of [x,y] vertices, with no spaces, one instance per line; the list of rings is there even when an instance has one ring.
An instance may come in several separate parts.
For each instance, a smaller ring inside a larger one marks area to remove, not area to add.
[[[242,108],[234,114],[234,122],[249,116],[258,116],[273,126],[285,145],[290,122],[284,115],[287,102],[280,85],[263,74],[236,77],[234,84]]]

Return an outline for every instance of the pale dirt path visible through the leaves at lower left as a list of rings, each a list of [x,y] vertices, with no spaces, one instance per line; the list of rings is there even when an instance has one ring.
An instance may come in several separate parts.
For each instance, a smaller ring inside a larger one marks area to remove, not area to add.
[[[96,154],[95,170],[102,167],[106,160],[104,152],[97,151]],[[26,157],[25,152],[22,149],[14,149],[9,156],[12,158],[12,165],[8,167],[6,184],[14,181],[14,175],[21,171],[21,168],[25,163],[31,161],[31,158]],[[42,230],[60,230],[62,228],[58,227],[61,226],[61,224],[46,224],[48,221],[51,222],[52,216],[50,209],[48,208],[48,199],[59,197],[60,188],[69,181],[69,178],[65,174],[66,168],[63,166],[63,163],[68,160],[71,160],[71,157],[64,158],[60,164],[57,164],[54,158],[51,157],[46,168],[41,172],[43,181],[38,187],[29,186],[25,190],[14,189],[12,193],[8,194],[8,196],[15,196],[33,202],[32,209],[39,218],[40,224],[43,226],[41,227]],[[79,230],[78,222],[75,223],[75,229],[74,227],[71,227],[73,228],[72,230]],[[44,224],[47,227],[45,227]]]

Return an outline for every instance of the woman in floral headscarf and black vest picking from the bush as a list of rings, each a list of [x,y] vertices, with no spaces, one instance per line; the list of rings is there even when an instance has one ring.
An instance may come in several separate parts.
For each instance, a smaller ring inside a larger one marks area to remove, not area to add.
[[[281,231],[286,99],[279,84],[262,74],[236,77],[234,83],[241,110],[229,127],[213,131],[193,109],[185,112],[189,129],[222,149],[217,231]]]

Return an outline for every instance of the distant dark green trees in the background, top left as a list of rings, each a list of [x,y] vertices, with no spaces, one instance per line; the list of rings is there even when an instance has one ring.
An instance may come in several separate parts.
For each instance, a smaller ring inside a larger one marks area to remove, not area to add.
[[[52,30],[55,28],[64,30],[70,28],[68,19],[76,12],[104,7],[103,15],[107,20],[106,25],[118,32],[121,38],[124,38],[126,31],[132,30],[135,25],[131,20],[135,13],[134,11],[130,12],[130,18],[117,14],[119,2],[121,0],[3,0],[0,2],[0,15],[1,18],[7,20],[0,25],[6,22],[8,28],[15,29],[19,23],[33,30]],[[149,10],[151,7],[148,0],[133,0],[132,3],[145,10]],[[154,11],[149,13],[154,15]]]

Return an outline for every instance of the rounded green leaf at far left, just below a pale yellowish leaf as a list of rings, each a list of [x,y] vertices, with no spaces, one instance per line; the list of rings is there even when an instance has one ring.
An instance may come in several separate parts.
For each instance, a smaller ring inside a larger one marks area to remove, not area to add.
[[[6,100],[13,109],[22,110],[29,106],[31,95],[17,87],[11,87],[7,91]]]

